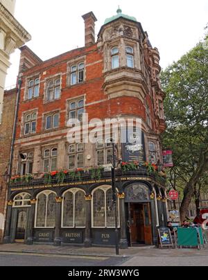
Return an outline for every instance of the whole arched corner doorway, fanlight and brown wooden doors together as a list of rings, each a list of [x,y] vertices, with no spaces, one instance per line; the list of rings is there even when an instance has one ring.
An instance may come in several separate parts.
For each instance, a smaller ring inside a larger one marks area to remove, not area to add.
[[[125,189],[125,204],[128,207],[128,229],[131,245],[153,244],[148,186],[133,183]]]

